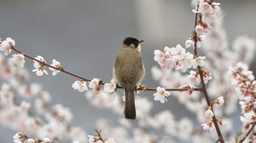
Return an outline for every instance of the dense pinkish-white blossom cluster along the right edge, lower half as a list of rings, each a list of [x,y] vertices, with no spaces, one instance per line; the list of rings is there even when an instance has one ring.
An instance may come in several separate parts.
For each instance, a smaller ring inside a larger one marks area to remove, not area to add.
[[[242,130],[244,134],[249,131],[249,128],[253,128],[253,124],[256,123],[255,114],[255,96],[256,96],[256,81],[252,71],[249,71],[248,66],[244,63],[237,63],[236,66],[230,68],[230,76],[232,77],[232,83],[236,86],[236,90],[239,96],[239,104],[241,105],[241,122],[243,123]],[[252,131],[254,132],[254,130]],[[255,139],[254,134],[249,135],[248,142],[252,142]]]

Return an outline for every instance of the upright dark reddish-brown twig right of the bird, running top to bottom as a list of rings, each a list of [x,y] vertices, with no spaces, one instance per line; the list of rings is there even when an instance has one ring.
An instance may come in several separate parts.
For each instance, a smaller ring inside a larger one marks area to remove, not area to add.
[[[197,10],[198,10],[198,7],[199,7],[199,4],[197,4]],[[197,17],[198,17],[198,13],[195,14],[195,27],[197,26],[197,23],[198,23]],[[193,35],[194,36],[193,37],[194,38],[194,42],[195,42],[195,44],[194,44],[194,48],[195,48],[194,49],[194,55],[195,55],[195,57],[197,57],[197,32],[195,31],[195,27],[194,27],[194,35]],[[208,97],[208,93],[206,91],[206,85],[205,85],[205,83],[203,81],[203,71],[201,70],[200,66],[197,66],[197,70],[198,70],[198,72],[200,74],[200,80],[201,80],[201,84],[202,84],[203,95],[206,98],[206,103],[207,103],[208,107],[211,107],[211,101],[210,101],[210,99]],[[212,110],[212,112],[214,112],[213,108],[211,108],[211,110]],[[223,137],[222,137],[222,133],[221,133],[221,131],[219,129],[218,121],[217,121],[217,118],[215,117],[215,114],[212,117],[212,120],[213,120],[214,126],[216,128],[217,134],[219,136],[218,141],[221,142],[221,143],[224,143],[224,140],[223,140]]]

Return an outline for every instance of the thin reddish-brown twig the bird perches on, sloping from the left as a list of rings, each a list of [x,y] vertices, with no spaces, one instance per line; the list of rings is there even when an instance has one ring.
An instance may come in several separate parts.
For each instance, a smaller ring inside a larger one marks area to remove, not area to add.
[[[12,50],[14,50],[14,51],[17,52],[17,53],[23,54],[26,58],[30,58],[31,60],[37,61],[38,63],[42,63],[42,64],[45,65],[45,66],[48,66],[48,67],[50,67],[50,68],[59,70],[59,71],[61,71],[61,72],[64,72],[65,74],[69,74],[69,75],[71,75],[72,77],[78,78],[79,80],[84,80],[84,81],[87,81],[87,82],[91,82],[91,80],[89,80],[89,79],[87,79],[87,78],[84,78],[84,77],[81,77],[81,76],[79,76],[78,74],[73,74],[72,72],[67,71],[67,70],[64,70],[63,68],[62,68],[62,69],[59,69],[59,68],[57,68],[57,67],[55,67],[55,66],[50,66],[50,64],[48,64],[48,63],[39,61],[39,60],[37,60],[36,58],[33,58],[31,55],[27,55],[27,54],[21,52],[20,50],[16,49],[15,47],[12,47]],[[100,85],[105,85],[105,82],[99,82],[99,84],[100,84]],[[122,88],[122,87],[117,85],[116,88]],[[187,91],[187,90],[189,90],[189,89],[191,89],[191,88],[168,88],[168,89],[165,89],[165,90],[167,90],[167,91]],[[146,88],[137,88],[136,90],[156,91],[157,88],[147,88],[147,87],[146,87]],[[193,90],[195,90],[195,91],[203,91],[202,88],[194,88]]]

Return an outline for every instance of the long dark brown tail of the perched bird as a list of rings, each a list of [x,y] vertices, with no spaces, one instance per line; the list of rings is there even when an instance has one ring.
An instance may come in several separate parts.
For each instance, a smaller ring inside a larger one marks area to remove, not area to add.
[[[135,87],[135,86],[134,86]],[[134,98],[134,87],[129,83],[125,84],[125,107],[124,115],[127,119],[135,120],[136,109],[135,109],[135,98]]]

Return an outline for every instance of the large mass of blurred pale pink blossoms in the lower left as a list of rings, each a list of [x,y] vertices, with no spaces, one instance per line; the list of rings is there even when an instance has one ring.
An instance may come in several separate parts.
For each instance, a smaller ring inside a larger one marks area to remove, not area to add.
[[[0,53],[0,79],[4,80],[0,85],[0,124],[31,136],[26,142],[36,142],[37,138],[43,142],[48,139],[87,142],[86,132],[70,125],[73,118],[70,109],[61,104],[50,104],[50,93],[38,83],[28,84],[28,74],[25,68],[17,70],[12,60]],[[14,142],[23,139],[21,135],[15,134]]]

